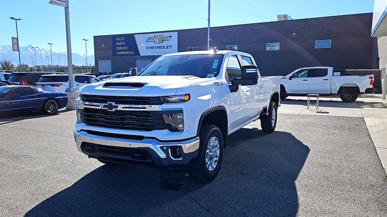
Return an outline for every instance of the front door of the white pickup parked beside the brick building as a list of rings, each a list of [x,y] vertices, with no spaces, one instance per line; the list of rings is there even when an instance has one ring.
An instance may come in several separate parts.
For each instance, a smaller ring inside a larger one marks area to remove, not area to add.
[[[288,93],[308,93],[308,70],[296,71],[288,78]]]

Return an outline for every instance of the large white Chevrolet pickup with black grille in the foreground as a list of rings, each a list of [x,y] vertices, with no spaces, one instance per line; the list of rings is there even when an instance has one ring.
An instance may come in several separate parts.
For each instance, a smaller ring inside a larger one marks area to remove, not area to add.
[[[77,148],[106,164],[189,168],[212,181],[229,134],[260,119],[273,132],[279,77],[261,78],[250,54],[166,54],[139,75],[93,83],[76,99]]]

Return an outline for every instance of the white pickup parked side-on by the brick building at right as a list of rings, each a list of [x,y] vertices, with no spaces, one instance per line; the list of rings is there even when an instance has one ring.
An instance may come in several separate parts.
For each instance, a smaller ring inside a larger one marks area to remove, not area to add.
[[[308,67],[281,77],[281,99],[288,95],[340,95],[344,102],[354,102],[358,93],[373,93],[373,75],[340,76],[332,67]]]

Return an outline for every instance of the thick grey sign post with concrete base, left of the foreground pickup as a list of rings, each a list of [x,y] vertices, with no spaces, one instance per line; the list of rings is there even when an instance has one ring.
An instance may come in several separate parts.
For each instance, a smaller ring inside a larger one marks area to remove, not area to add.
[[[75,109],[75,99],[78,98],[77,88],[74,86],[72,73],[72,53],[71,53],[71,36],[70,36],[70,15],[68,12],[68,0],[50,0],[51,5],[58,5],[65,8],[65,24],[66,24],[66,42],[67,42],[67,65],[68,65],[68,86],[66,89],[68,103],[67,110]]]

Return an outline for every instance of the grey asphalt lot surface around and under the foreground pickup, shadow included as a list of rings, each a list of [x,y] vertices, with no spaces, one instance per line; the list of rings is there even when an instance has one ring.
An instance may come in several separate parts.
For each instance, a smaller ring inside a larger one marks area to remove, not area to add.
[[[387,182],[363,118],[278,114],[231,134],[219,176],[109,166],[75,147],[75,112],[0,122],[0,215],[387,216]]]

